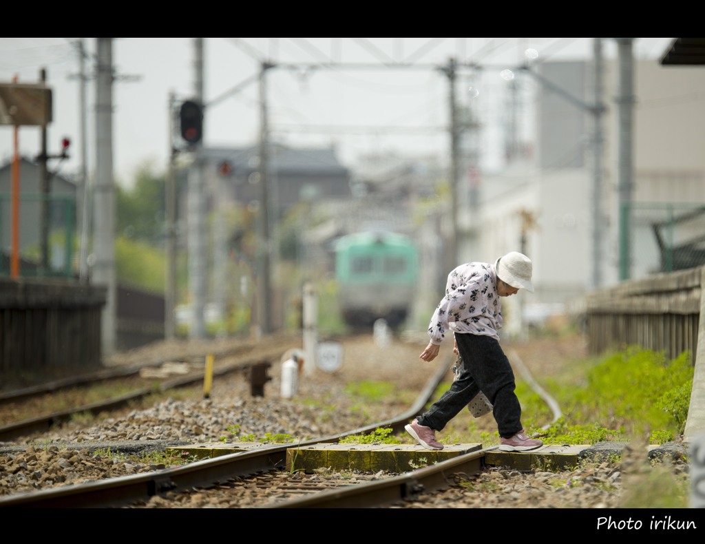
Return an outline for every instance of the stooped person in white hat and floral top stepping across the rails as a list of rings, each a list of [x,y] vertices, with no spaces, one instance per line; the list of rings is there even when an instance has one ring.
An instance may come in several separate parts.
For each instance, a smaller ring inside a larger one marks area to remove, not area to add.
[[[436,307],[429,323],[429,344],[419,358],[433,361],[448,330],[455,336],[453,351],[463,364],[450,389],[429,409],[405,426],[407,433],[427,449],[443,449],[436,431],[443,430],[464,406],[483,392],[493,406],[492,413],[505,452],[526,451],[544,445],[532,440],[521,423],[521,407],[514,392],[512,367],[499,345],[502,327],[500,297],[533,293],[532,262],[512,251],[489,262],[468,262],[448,274],[446,296]]]

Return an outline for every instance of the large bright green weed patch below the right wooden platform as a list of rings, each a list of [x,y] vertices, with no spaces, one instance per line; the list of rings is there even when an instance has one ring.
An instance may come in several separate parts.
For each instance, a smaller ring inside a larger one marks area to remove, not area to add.
[[[668,361],[663,353],[627,346],[582,365],[582,375],[546,380],[545,389],[563,416],[540,432],[537,422],[550,421],[548,408],[527,384],[517,383],[525,426],[539,432],[546,444],[629,442],[642,435],[649,444],[670,442],[685,429],[693,379],[690,361],[687,352]]]

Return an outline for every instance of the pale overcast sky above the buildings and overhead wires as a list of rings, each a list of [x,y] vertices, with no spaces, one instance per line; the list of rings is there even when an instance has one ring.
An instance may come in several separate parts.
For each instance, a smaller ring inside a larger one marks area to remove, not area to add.
[[[195,39],[114,38],[113,165],[116,183],[130,186],[141,168],[166,170],[173,142],[169,97],[178,106],[195,97]],[[532,83],[513,68],[529,63],[589,60],[593,38],[204,38],[204,147],[259,143],[262,126],[259,73],[266,71],[266,114],[271,140],[291,147],[334,145],[347,167],[369,154],[404,157],[449,155],[449,59],[460,64],[456,97],[482,126],[481,167],[501,168],[509,81],[529,105]],[[635,38],[636,59],[657,60],[673,38]],[[85,103],[80,92],[79,44],[85,51]],[[69,138],[70,158],[50,169],[90,177],[95,163],[95,55],[97,38],[0,38],[0,84],[39,83],[41,70],[52,91],[53,119],[47,151],[59,153]],[[615,40],[603,40],[603,55],[615,59]],[[402,66],[403,65],[403,66]],[[510,70],[511,72],[505,72]],[[516,74],[514,78],[511,76]],[[526,76],[524,76],[526,78]],[[533,83],[533,85],[536,85]],[[521,98],[520,98],[521,100]],[[82,108],[85,115],[81,115]],[[520,131],[532,130],[522,108]],[[81,123],[85,122],[85,154]],[[0,125],[0,164],[13,157],[14,130]],[[39,152],[41,128],[18,131],[20,156]]]

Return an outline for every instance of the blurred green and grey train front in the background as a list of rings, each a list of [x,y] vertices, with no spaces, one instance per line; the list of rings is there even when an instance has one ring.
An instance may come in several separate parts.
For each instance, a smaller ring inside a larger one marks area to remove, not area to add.
[[[396,329],[410,314],[419,279],[417,243],[403,234],[369,231],[336,242],[338,301],[345,323]]]

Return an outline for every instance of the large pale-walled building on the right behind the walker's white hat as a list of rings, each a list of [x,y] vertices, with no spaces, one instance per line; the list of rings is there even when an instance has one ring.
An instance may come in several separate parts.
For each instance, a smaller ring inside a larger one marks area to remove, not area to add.
[[[595,116],[589,111],[596,95],[593,61],[546,62],[532,68],[587,108],[546,88],[540,78],[529,80],[525,75],[535,97],[535,140],[527,145],[532,154],[510,162],[501,174],[480,174],[477,210],[460,191],[460,260],[494,262],[510,250],[525,250],[534,262],[536,292],[520,291],[508,299],[508,312],[520,303],[525,317],[541,313],[539,307],[580,301],[587,291],[622,279],[619,63],[619,59],[603,59],[606,111],[601,116],[598,215],[592,145]],[[633,208],[628,262],[629,277],[637,278],[662,270],[654,224],[705,207],[705,70],[637,59],[631,69]],[[681,226],[666,229],[666,238],[677,244],[673,236],[694,238],[698,231],[705,238],[705,219],[699,218],[703,215],[691,222],[687,233]],[[527,217],[535,223],[526,222]],[[598,274],[595,262],[601,263]],[[517,321],[513,320],[514,326],[520,327]]]

